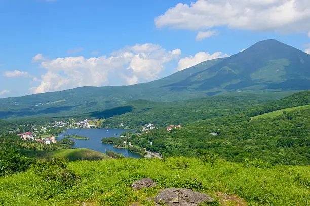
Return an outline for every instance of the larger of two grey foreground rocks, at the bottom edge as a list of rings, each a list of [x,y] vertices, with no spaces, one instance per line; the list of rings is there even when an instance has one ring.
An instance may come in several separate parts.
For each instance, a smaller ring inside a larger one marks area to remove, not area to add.
[[[212,202],[214,199],[207,194],[190,189],[168,188],[161,191],[154,201],[158,204],[164,202],[170,206],[197,206],[202,202]]]

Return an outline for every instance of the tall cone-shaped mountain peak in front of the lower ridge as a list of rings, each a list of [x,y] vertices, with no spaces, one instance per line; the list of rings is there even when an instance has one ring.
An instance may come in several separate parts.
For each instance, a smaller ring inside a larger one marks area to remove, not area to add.
[[[277,40],[260,41],[214,66],[164,87],[174,91],[215,92],[309,89],[310,55]]]

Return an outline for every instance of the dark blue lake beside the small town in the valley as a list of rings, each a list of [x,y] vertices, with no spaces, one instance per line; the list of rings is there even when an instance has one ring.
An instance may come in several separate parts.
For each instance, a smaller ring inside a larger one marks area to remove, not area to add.
[[[87,148],[92,149],[95,151],[99,151],[105,153],[105,150],[111,150],[113,152],[117,152],[122,154],[125,157],[132,157],[132,158],[141,158],[140,155],[136,153],[130,153],[127,149],[119,149],[114,148],[113,144],[102,144],[101,139],[106,137],[113,137],[113,136],[120,136],[120,134],[124,131],[130,131],[126,129],[67,129],[62,134],[59,134],[58,140],[64,138],[66,134],[75,134],[84,137],[89,137],[89,140],[82,140],[82,139],[72,139],[75,141],[74,148]],[[117,135],[115,135],[117,134]]]

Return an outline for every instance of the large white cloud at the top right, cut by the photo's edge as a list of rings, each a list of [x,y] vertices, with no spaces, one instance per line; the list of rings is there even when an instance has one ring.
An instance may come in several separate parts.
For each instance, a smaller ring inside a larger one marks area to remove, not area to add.
[[[179,3],[155,18],[158,28],[308,32],[309,0],[197,0]]]

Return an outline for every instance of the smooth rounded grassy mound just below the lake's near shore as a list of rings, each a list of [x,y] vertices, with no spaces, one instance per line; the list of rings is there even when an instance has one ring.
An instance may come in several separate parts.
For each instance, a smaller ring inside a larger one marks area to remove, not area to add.
[[[69,161],[75,160],[105,160],[111,159],[109,156],[91,149],[62,149],[57,151],[23,151],[23,154],[38,159],[49,157],[67,158]]]

